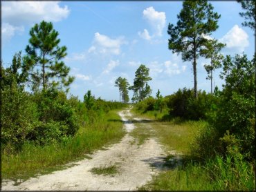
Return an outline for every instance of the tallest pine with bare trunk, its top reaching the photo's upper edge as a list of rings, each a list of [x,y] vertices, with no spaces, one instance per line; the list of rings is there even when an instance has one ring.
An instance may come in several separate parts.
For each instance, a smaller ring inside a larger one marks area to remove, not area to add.
[[[208,41],[203,35],[211,35],[217,30],[220,15],[213,12],[211,3],[206,0],[183,1],[183,9],[177,15],[177,25],[169,23],[169,49],[172,52],[181,52],[183,61],[192,61],[194,73],[194,97],[197,97],[196,59],[199,58],[199,49]]]

